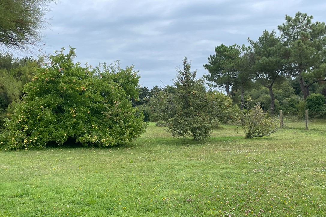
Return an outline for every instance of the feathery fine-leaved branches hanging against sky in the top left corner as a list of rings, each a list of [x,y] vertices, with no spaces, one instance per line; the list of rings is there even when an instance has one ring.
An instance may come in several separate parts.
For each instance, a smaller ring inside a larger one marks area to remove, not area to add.
[[[0,46],[7,49],[30,50],[40,46],[41,30],[47,28],[44,18],[47,4],[56,0],[2,0],[0,1]]]

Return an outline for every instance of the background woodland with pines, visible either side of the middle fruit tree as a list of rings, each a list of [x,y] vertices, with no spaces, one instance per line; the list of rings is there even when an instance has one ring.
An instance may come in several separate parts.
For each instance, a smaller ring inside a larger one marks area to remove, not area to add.
[[[203,65],[208,72],[205,83],[225,92],[241,110],[259,102],[271,115],[283,110],[303,118],[309,108],[310,117],[325,117],[326,25],[312,19],[301,12],[286,15],[278,33],[264,30],[256,41],[248,38],[249,46],[215,47],[215,54]],[[171,91],[173,86],[161,89]],[[147,120],[151,118],[147,103],[159,90],[140,87],[140,101],[133,102]]]

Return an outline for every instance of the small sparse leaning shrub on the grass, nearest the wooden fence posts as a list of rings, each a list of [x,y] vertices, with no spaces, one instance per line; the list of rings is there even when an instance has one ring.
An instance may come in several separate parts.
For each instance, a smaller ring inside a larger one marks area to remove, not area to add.
[[[253,109],[245,111],[241,118],[242,128],[245,138],[269,136],[278,129],[279,120],[277,117],[271,118],[257,103]]]

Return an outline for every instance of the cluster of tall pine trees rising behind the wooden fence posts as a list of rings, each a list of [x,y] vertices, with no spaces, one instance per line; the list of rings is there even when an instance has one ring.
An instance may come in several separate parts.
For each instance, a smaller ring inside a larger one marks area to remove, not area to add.
[[[275,113],[275,88],[293,92],[304,100],[312,92],[325,94],[326,25],[312,19],[301,12],[294,17],[286,15],[285,22],[277,26],[278,34],[264,30],[258,40],[248,38],[249,46],[215,47],[215,54],[204,64],[208,71],[205,78],[235,102],[240,98],[241,108],[245,95],[254,97],[255,91],[268,91],[270,105],[266,108],[271,114]],[[282,85],[292,89],[286,90]],[[296,104],[300,101],[295,96],[286,98]],[[291,102],[283,104],[286,103]]]

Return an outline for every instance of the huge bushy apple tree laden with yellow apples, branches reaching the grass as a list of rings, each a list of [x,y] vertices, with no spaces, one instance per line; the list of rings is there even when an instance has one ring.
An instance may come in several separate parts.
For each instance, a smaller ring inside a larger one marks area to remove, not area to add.
[[[22,103],[0,136],[1,148],[43,148],[68,138],[86,146],[114,146],[144,132],[143,115],[136,116],[129,100],[139,80],[133,67],[84,68],[73,62],[73,48],[67,55],[54,53],[24,86]]]

